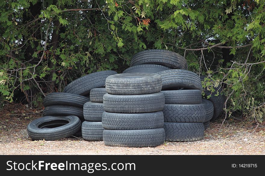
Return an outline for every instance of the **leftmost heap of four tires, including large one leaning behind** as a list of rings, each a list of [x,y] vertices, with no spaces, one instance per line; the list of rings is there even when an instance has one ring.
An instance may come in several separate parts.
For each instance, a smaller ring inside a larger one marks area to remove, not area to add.
[[[89,102],[90,90],[105,86],[108,76],[116,71],[99,71],[69,83],[63,93],[48,94],[43,104],[43,117],[33,120],[27,132],[33,140],[56,140],[81,133],[85,120],[83,106]],[[102,103],[101,103],[102,104]]]

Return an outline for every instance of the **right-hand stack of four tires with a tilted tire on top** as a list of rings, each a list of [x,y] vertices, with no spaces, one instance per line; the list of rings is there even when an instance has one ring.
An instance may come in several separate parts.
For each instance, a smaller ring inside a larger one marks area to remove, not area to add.
[[[158,72],[165,95],[164,129],[166,141],[197,141],[203,139],[205,108],[201,103],[200,77],[188,70],[172,69]]]

